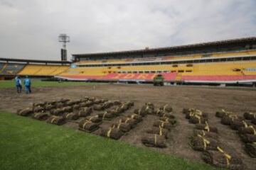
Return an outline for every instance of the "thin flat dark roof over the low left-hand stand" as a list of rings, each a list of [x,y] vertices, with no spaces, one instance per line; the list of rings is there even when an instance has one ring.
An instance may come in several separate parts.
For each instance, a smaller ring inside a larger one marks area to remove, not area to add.
[[[9,58],[0,58],[0,62],[26,62],[26,63],[38,63],[38,64],[71,64],[71,62],[69,62],[69,61],[24,60],[24,59],[9,59]]]

